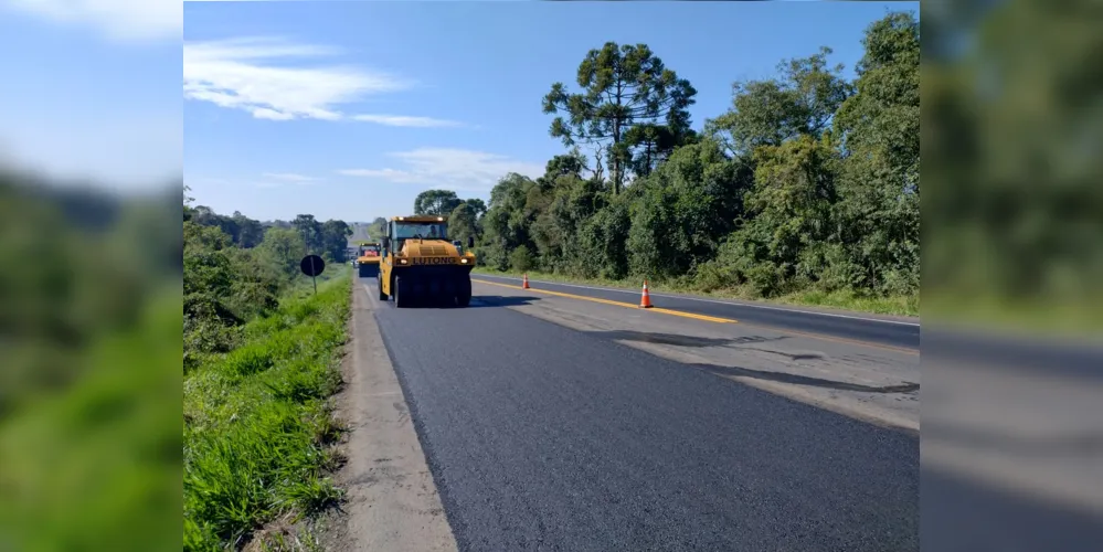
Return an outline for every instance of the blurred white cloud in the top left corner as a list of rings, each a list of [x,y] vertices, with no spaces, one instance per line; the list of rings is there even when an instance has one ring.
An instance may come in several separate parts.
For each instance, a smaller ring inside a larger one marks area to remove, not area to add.
[[[183,32],[180,0],[0,0],[0,7],[89,26],[114,42],[178,41]]]

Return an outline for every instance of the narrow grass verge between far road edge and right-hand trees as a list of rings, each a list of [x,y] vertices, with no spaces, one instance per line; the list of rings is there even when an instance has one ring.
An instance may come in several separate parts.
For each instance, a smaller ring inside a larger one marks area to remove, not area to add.
[[[476,267],[475,274],[487,274],[487,275],[499,275],[499,276],[516,276],[520,277],[521,273],[516,270],[498,272],[491,270],[485,267]],[[595,286],[608,286],[608,287],[623,287],[623,288],[635,288],[643,284],[639,279],[623,279],[623,280],[609,280],[603,278],[579,278],[574,276],[564,276],[562,274],[548,274],[537,270],[529,270],[529,277],[533,279],[544,279],[549,282],[563,282],[569,284],[588,284]],[[794,294],[783,295],[779,297],[771,297],[770,299],[762,299],[756,297],[753,293],[749,290],[732,288],[732,289],[703,289],[692,282],[686,280],[667,280],[657,283],[647,283],[648,288],[651,291],[665,291],[665,293],[676,293],[676,294],[694,294],[707,297],[717,297],[723,299],[742,299],[742,300],[760,300],[766,302],[776,302],[783,305],[794,305],[794,306],[810,306],[810,307],[826,307],[836,308],[844,310],[852,310],[856,312],[870,312],[876,315],[895,315],[895,316],[919,316],[919,295],[913,296],[900,296],[900,297],[868,297],[861,296],[850,291],[821,291],[809,289],[806,291],[798,291]]]

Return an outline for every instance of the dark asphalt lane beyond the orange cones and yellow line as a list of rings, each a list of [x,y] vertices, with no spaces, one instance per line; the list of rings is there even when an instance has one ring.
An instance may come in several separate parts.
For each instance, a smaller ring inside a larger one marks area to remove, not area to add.
[[[476,274],[473,277],[488,282],[520,284],[520,279],[511,277],[486,274]],[[530,280],[530,285],[539,289],[626,302],[638,302],[640,294],[639,290],[577,286],[544,280]],[[733,318],[745,325],[759,325],[908,349],[919,349],[920,347],[920,323],[915,319],[826,312],[799,307],[740,304],[707,297],[656,294],[654,290],[650,291],[650,296],[651,302],[656,307]]]

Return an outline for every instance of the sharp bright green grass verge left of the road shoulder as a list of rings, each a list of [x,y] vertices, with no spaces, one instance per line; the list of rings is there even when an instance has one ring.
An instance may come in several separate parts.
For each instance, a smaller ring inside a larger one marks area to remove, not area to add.
[[[327,474],[342,428],[329,397],[340,382],[351,278],[333,270],[250,322],[243,343],[184,380],[185,551],[240,546],[265,523],[322,509],[340,491]]]

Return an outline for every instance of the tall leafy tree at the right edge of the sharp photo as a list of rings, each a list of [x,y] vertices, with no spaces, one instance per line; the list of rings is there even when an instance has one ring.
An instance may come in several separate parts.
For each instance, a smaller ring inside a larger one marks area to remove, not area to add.
[[[853,285],[901,293],[919,286],[919,22],[889,14],[862,43],[858,93],[835,120],[845,156],[838,238]]]

